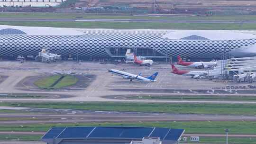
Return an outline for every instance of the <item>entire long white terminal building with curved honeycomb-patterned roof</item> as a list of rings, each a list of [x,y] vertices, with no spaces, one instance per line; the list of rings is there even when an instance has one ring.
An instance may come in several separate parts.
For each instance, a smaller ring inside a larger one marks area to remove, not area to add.
[[[63,57],[149,58],[256,56],[255,31],[79,29],[0,25],[0,56],[36,56],[42,48]]]

